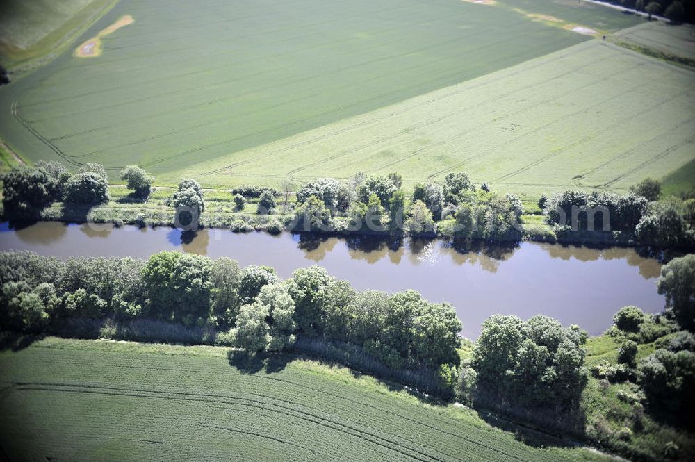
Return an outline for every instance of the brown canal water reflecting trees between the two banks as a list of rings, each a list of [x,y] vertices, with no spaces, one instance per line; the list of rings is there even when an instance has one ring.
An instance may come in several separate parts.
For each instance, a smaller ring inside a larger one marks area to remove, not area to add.
[[[99,229],[95,229],[95,227]],[[359,290],[418,290],[432,302],[450,302],[477,337],[496,313],[524,319],[543,313],[591,335],[605,331],[619,308],[636,305],[658,313],[661,263],[635,249],[591,249],[522,242],[459,247],[441,240],[336,238],[306,234],[232,233],[204,229],[193,238],[166,227],[40,222],[23,229],[0,224],[0,250],[37,254],[148,258],[162,250],[229,256],[240,265],[269,265],[289,277],[298,267],[321,265]]]

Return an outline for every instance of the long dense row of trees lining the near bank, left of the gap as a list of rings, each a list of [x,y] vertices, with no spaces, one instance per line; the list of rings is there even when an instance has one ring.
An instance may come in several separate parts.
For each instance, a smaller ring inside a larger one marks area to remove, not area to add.
[[[357,345],[391,368],[441,369],[455,382],[461,322],[450,304],[413,290],[357,292],[318,266],[281,281],[270,267],[181,252],[63,262],[11,251],[0,254],[0,282],[3,330],[42,331],[68,317],[147,318],[226,331],[250,352],[286,349],[302,335]]]

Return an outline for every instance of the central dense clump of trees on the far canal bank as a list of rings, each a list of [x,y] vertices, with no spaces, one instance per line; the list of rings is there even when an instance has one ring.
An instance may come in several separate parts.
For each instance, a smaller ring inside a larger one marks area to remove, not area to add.
[[[461,238],[502,238],[510,232],[520,236],[521,200],[513,195],[498,197],[488,188],[477,190],[464,173],[448,174],[443,185],[416,184],[409,201],[401,187],[397,173],[309,181],[297,191],[297,227],[414,236],[439,231]]]

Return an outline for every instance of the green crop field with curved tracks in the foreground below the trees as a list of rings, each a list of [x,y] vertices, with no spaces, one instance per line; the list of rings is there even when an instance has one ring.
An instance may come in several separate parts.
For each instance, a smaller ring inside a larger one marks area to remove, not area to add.
[[[470,410],[281,356],[261,369],[215,347],[49,338],[0,353],[11,461],[605,460],[541,449]]]

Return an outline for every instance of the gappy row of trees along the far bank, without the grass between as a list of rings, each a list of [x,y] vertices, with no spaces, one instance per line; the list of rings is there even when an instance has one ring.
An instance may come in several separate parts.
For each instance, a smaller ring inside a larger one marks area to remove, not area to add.
[[[121,178],[133,190],[133,197],[149,196],[153,178],[140,167],[125,167]],[[86,164],[71,175],[60,163],[40,161],[35,167],[13,168],[3,176],[3,183],[3,205],[10,219],[35,217],[54,201],[87,206],[109,200],[106,170],[98,164]],[[279,195],[284,195],[284,208],[288,208],[290,190],[289,186],[285,192],[245,186],[232,191],[233,201],[236,210],[242,211],[247,197],[257,198],[257,213],[270,214],[277,209]],[[646,179],[627,195],[566,190],[541,197],[539,206],[556,231],[621,231],[645,244],[695,246],[695,199],[659,200],[660,194],[660,183]],[[461,172],[448,174],[443,184],[416,184],[410,198],[402,190],[402,176],[395,172],[356,174],[348,180],[315,179],[304,183],[296,197],[290,226],[300,231],[486,240],[517,240],[523,231],[524,211],[518,197],[496,195],[485,184],[476,188]],[[174,224],[193,221],[194,228],[206,210],[204,191],[194,179],[182,179],[167,204],[175,209]],[[270,228],[279,232],[283,226],[274,222]]]

